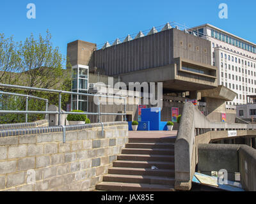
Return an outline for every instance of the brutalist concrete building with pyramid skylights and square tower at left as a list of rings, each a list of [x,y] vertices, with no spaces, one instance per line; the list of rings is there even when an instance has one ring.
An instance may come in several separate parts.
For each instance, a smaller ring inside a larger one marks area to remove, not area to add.
[[[100,49],[94,43],[77,40],[68,43],[67,56],[72,66],[88,66],[89,82],[90,73],[118,79],[127,88],[129,82],[163,82],[163,121],[171,119],[171,107],[180,107],[181,113],[186,99],[202,101],[205,115],[214,112],[212,104],[218,99],[218,115],[219,110],[225,110],[225,101],[236,97],[229,89],[218,87],[218,69],[211,65],[211,42],[170,24],[161,31],[153,27],[147,35],[140,31],[134,39],[127,36],[124,41],[116,39],[112,45],[107,42]],[[219,97],[223,89],[226,94]],[[208,93],[212,90],[214,96]],[[131,119],[136,119],[136,113]]]

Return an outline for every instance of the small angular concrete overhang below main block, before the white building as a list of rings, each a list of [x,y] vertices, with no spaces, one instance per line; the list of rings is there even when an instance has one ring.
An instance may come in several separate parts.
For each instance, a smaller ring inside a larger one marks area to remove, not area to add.
[[[233,101],[237,96],[236,92],[224,87],[223,85],[219,85],[215,89],[201,90],[200,92],[201,97],[217,98],[225,101]]]

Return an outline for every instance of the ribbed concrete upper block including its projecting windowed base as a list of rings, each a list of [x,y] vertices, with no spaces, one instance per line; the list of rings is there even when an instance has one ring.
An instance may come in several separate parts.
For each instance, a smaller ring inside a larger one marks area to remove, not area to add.
[[[164,82],[164,88],[182,91],[217,86],[216,68],[211,66],[211,44],[178,29],[100,49],[93,57],[90,66],[104,69],[106,75],[120,76],[125,84]],[[205,69],[207,74],[185,70],[184,65]]]

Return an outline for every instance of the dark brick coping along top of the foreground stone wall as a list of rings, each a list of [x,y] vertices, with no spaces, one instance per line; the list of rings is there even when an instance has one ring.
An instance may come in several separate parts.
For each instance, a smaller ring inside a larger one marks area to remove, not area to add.
[[[118,126],[118,125],[128,125],[127,122],[103,122],[103,126]],[[72,126],[65,126],[66,131],[75,131],[79,129],[92,129],[92,128],[101,128],[101,123],[92,123],[92,124],[80,124],[80,125],[72,125]],[[33,135],[33,134],[40,134],[40,133],[56,133],[62,132],[62,126],[52,126],[52,127],[42,127],[42,128],[19,128],[19,129],[3,129],[0,130],[0,137],[4,136],[18,136],[18,135]]]

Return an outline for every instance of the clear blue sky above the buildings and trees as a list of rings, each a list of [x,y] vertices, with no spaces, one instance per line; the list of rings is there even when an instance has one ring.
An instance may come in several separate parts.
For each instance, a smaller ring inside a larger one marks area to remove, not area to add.
[[[35,4],[36,19],[26,17],[28,3]],[[228,5],[228,19],[218,17],[220,3]],[[172,21],[190,27],[209,23],[256,43],[255,7],[254,0],[1,0],[0,33],[24,41],[49,29],[63,55],[70,41],[99,45]]]

